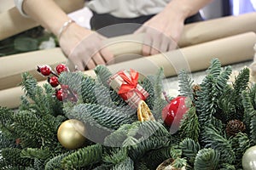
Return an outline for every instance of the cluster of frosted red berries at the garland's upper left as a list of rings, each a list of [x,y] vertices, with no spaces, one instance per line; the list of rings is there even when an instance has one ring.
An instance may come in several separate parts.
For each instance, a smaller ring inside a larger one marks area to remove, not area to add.
[[[56,88],[55,97],[58,100],[69,100],[72,102],[77,102],[78,95],[75,92],[73,92],[67,85],[61,84],[59,82],[59,75],[61,74],[61,72],[64,71],[69,71],[67,66],[64,64],[57,65],[55,67],[55,71],[53,71],[49,65],[38,66],[38,72],[42,74],[44,77],[48,77],[47,80],[49,84],[53,88]],[[61,86],[61,88],[57,88],[59,85]]]

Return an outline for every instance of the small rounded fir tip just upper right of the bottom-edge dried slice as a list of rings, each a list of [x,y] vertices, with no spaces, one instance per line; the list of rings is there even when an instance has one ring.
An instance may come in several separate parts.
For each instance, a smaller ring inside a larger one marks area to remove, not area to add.
[[[179,144],[179,148],[182,150],[183,156],[185,156],[191,165],[194,165],[195,156],[199,150],[201,150],[200,144],[193,139],[183,139]]]

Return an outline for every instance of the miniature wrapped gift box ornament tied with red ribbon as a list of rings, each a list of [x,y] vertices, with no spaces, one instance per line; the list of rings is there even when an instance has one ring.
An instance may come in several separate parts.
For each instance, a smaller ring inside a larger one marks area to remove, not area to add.
[[[119,71],[110,77],[108,84],[119,96],[134,108],[148,98],[148,92],[138,84],[139,73],[134,70]]]

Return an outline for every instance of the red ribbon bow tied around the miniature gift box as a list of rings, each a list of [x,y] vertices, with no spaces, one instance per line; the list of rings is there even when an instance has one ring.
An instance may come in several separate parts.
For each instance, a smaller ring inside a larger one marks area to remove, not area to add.
[[[118,93],[123,99],[126,100],[131,98],[134,93],[136,93],[140,99],[143,99],[143,100],[146,99],[144,94],[137,89],[137,83],[138,83],[137,81],[139,77],[139,74],[137,71],[134,71],[131,69],[130,71],[131,78],[127,77],[123,71],[120,71],[118,74],[125,81],[125,83],[123,83],[119,88],[119,93]]]

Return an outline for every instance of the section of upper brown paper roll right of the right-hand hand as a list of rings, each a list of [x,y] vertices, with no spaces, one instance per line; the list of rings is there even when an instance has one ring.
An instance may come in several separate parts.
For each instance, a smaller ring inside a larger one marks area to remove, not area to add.
[[[186,25],[178,46],[180,48],[187,47],[248,31],[256,32],[256,12]]]

